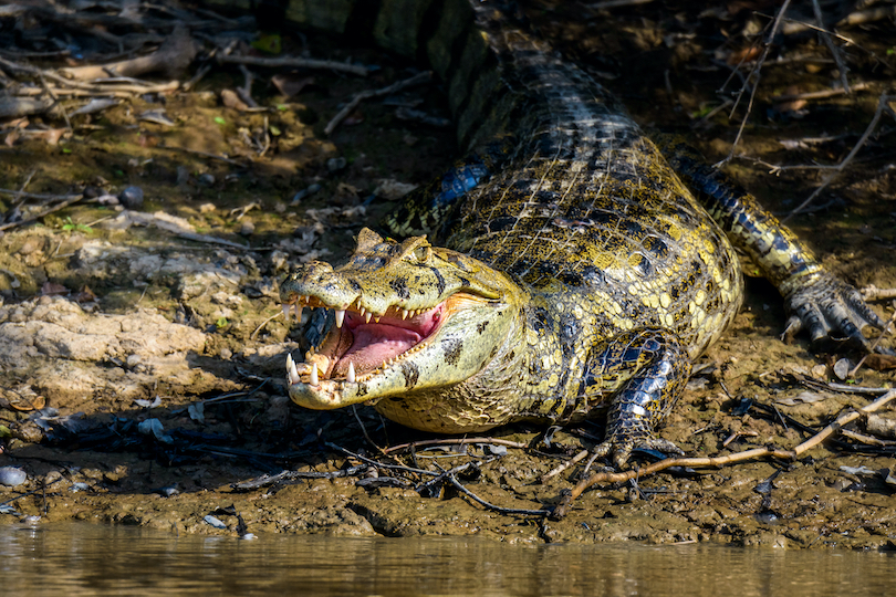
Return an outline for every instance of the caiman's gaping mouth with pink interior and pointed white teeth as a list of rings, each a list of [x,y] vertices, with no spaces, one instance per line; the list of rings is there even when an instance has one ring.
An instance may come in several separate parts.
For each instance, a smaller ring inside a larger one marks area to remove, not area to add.
[[[317,386],[322,379],[363,381],[425,346],[445,322],[447,302],[417,311],[390,306],[379,315],[366,311],[360,300],[344,310],[334,310],[335,325],[319,347],[305,354],[305,363],[296,365],[291,356],[286,357],[290,385]],[[332,308],[315,297],[296,296],[283,305],[286,320],[292,307],[301,321],[304,306]]]

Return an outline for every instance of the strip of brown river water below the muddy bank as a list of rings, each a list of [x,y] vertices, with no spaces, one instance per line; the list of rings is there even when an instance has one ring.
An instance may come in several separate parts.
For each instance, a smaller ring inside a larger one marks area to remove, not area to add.
[[[476,537],[181,536],[0,526],[3,595],[892,594],[889,554],[717,545],[510,546]]]

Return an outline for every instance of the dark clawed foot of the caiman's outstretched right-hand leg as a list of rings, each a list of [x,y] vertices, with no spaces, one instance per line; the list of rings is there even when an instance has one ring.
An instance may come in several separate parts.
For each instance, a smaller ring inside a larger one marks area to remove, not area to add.
[[[793,285],[792,292],[784,293],[786,310],[791,314],[784,337],[800,329],[806,329],[812,342],[836,338],[840,334],[871,350],[871,343],[862,334],[862,328],[871,325],[884,329],[886,323],[871,310],[857,290],[827,272],[816,272],[809,280],[801,279]]]

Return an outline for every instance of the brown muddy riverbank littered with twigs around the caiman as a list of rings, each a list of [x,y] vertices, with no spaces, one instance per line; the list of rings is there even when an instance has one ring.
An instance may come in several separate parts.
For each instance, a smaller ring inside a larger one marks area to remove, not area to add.
[[[728,154],[738,129],[727,109],[711,113],[740,87],[736,75],[718,93],[731,75],[727,64],[737,64],[732,56],[749,48],[740,33],[767,22],[732,14],[734,3],[727,8],[719,3],[700,13],[669,2],[593,12],[577,3],[528,6],[541,34],[618,93],[642,123],[684,133],[713,161]],[[827,172],[774,176],[757,160],[838,163],[872,121],[881,93],[893,91],[892,18],[838,31],[855,42],[841,42],[848,77],[866,88],[802,105],[774,101],[829,90],[840,80],[814,33],[780,38],[737,149],[751,159],[728,166],[775,212],[802,202]],[[222,105],[221,90],[241,84],[242,75],[218,66],[190,93],[148,94],[73,116],[73,134],[59,145],[23,137],[0,148],[6,189],[20,189],[33,174],[27,190],[35,193],[144,191],[136,210],[82,201],[0,238],[0,467],[28,474],[22,484],[0,485],[0,522],[76,519],[231,535],[896,546],[896,488],[887,483],[896,470],[892,444],[840,438],[794,462],[598,486],[560,521],[493,512],[450,484],[418,492],[427,478],[346,455],[341,449],[430,471],[481,462],[478,472],[459,473],[467,489],[499,506],[540,509],[556,503],[582,468],[546,482],[541,475],[593,446],[603,428],[595,421],[559,431],[548,447],[539,441],[543,430],[513,426],[489,437],[534,448],[480,440],[466,451],[421,446],[385,457],[379,449],[435,438],[384,421],[368,407],[313,412],[290,402],[283,363],[303,339],[278,315],[278,282],[310,259],[338,261],[353,235],[390,209],[388,197],[403,185],[424,184],[458,150],[449,127],[396,116],[397,107],[413,106],[447,117],[438,83],[364,103],[324,135],[352,94],[405,78],[413,65],[346,40],[283,33],[285,52],[304,44],[315,57],[379,69],[367,77],[259,70],[256,98],[270,109],[252,113]],[[269,83],[277,74],[305,80],[304,88],[283,96]],[[146,111],[164,111],[174,124],[140,119]],[[35,122],[61,126],[51,117]],[[247,139],[263,139],[265,129],[270,147],[259,156]],[[826,266],[857,287],[896,286],[893,130],[893,116],[885,114],[811,212],[791,222]],[[17,203],[0,198],[6,213]],[[178,231],[204,234],[204,241]],[[893,313],[886,301],[874,305],[884,317]],[[846,346],[821,352],[803,336],[781,342],[784,320],[774,289],[750,281],[742,312],[704,357],[707,367],[663,437],[692,455],[789,448],[813,433],[794,421],[819,429],[872,399],[804,379],[892,387],[893,371],[863,366],[848,375],[862,354]],[[836,366],[842,359],[850,360],[845,376],[845,364]],[[864,432],[861,423],[856,430]],[[235,485],[283,470],[321,478]],[[321,474],[337,471],[345,475]]]

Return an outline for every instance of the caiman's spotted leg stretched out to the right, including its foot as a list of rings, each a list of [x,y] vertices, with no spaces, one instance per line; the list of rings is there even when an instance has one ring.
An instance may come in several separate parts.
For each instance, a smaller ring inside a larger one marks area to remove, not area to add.
[[[759,266],[784,297],[785,334],[806,329],[813,342],[846,337],[869,349],[866,325],[884,329],[853,286],[825,271],[812,250],[725,172],[707,165],[677,138],[658,136],[660,150],[731,242]]]

